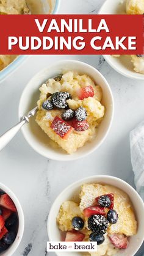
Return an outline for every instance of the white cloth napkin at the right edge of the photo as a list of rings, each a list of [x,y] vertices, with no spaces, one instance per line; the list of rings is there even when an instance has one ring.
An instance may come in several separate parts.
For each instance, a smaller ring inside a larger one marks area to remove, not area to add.
[[[144,200],[144,121],[131,131],[130,144],[135,186]]]

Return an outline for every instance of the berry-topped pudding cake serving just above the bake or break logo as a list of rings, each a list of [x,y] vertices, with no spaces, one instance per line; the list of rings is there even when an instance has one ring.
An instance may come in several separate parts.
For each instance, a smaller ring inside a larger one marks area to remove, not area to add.
[[[57,225],[65,241],[93,241],[92,256],[116,255],[124,251],[130,236],[137,233],[137,221],[128,195],[111,185],[85,184],[77,202],[63,202]]]

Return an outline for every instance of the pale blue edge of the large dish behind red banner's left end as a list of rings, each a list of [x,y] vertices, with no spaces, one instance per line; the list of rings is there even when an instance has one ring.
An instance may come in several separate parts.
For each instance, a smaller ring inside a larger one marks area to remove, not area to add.
[[[60,5],[60,0],[56,0],[56,4],[52,14],[56,14]],[[4,70],[0,71],[0,82],[9,76],[16,68],[20,67],[20,64],[27,58],[27,55],[18,56],[12,63],[10,63]]]

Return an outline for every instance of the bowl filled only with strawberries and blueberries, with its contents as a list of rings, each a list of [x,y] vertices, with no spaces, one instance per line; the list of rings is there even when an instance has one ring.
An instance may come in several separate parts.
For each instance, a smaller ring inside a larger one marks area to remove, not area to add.
[[[20,244],[24,215],[15,194],[0,183],[0,255],[11,256]]]

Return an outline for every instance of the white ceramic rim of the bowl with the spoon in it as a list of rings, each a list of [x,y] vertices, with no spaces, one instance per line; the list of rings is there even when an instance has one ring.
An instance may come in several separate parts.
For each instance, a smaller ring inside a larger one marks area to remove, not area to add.
[[[74,159],[84,158],[85,156],[90,155],[90,153],[93,153],[101,144],[103,144],[104,140],[106,139],[107,134],[109,133],[109,130],[110,130],[110,128],[111,128],[112,121],[113,121],[113,115],[114,115],[114,101],[113,101],[112,90],[110,89],[110,86],[109,86],[109,84],[108,84],[106,78],[104,78],[104,76],[103,76],[98,70],[96,70],[96,68],[92,67],[91,65],[86,64],[85,62],[81,62],[81,61],[78,61],[78,60],[60,60],[59,62],[52,64],[49,68],[51,68],[51,70],[52,70],[52,67],[55,67],[55,65],[59,65],[59,67],[60,67],[61,64],[63,64],[63,63],[65,63],[65,65],[66,65],[66,67],[67,67],[67,64],[70,64],[71,62],[73,62],[73,64],[75,64],[75,65],[80,64],[80,65],[84,65],[85,67],[91,68],[91,70],[95,71],[95,72],[98,74],[98,76],[99,76],[101,79],[103,79],[103,81],[104,81],[104,83],[105,83],[107,89],[109,90],[109,95],[110,95],[110,97],[111,97],[111,101],[112,101],[112,102],[111,102],[111,105],[112,105],[112,113],[111,113],[111,116],[110,116],[109,125],[107,125],[107,131],[104,133],[103,138],[95,145],[95,147],[92,147],[92,148],[88,149],[88,151],[85,152],[85,153],[82,153],[81,156],[76,156],[76,155],[63,155],[63,156],[62,156],[62,155],[60,155],[60,156],[58,157],[58,156],[52,155],[51,157],[49,157],[49,156],[47,155],[47,153],[45,153],[45,152],[43,152],[43,154],[41,154],[41,150],[39,150],[38,147],[37,147],[37,149],[36,149],[36,148],[34,147],[34,145],[29,142],[29,139],[27,139],[27,134],[26,134],[26,132],[23,130],[23,128],[21,129],[21,131],[22,131],[22,133],[23,133],[23,135],[24,135],[26,141],[29,143],[29,145],[31,145],[32,148],[34,148],[34,150],[35,150],[36,152],[40,153],[40,155],[43,155],[43,156],[45,156],[45,157],[47,157],[47,158],[50,158],[50,159],[53,159],[53,160],[57,160],[57,161],[71,161],[71,160],[74,160]],[[40,74],[41,74],[43,71],[45,71],[46,69],[47,69],[47,68],[43,68],[43,70],[39,71],[35,76],[40,75]],[[32,79],[34,79],[35,76],[34,76]],[[22,100],[23,100],[23,95],[24,95],[25,91],[27,90],[27,87],[29,87],[29,83],[32,81],[32,79],[28,82],[27,86],[24,88],[23,93],[22,93],[21,98],[20,98],[19,109],[18,109],[19,119],[21,118],[21,114],[20,114],[20,113],[21,113],[21,105],[22,105],[21,102],[22,102]],[[101,85],[100,85],[100,86],[101,86]],[[25,114],[26,114],[26,113],[25,113]]]

